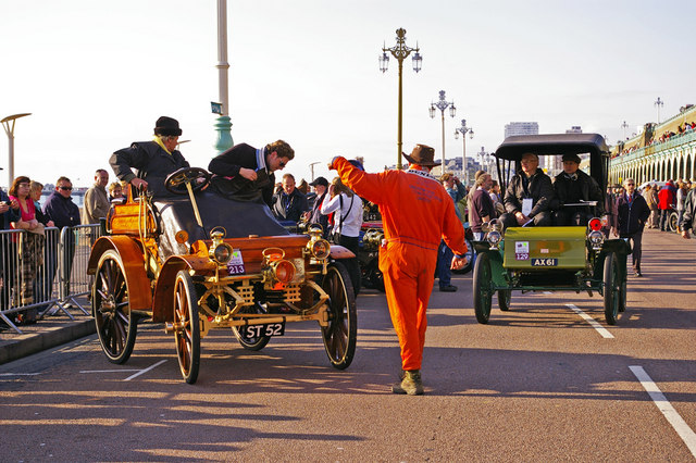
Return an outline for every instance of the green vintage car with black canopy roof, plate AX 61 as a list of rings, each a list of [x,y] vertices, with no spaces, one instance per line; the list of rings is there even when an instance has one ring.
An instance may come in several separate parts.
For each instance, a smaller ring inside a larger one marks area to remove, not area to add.
[[[523,153],[561,157],[575,153],[588,158],[589,174],[602,191],[607,188],[609,150],[597,134],[512,136],[495,152],[498,178],[507,188],[520,170]],[[579,205],[579,204],[566,204]],[[559,205],[563,207],[563,205]],[[584,203],[597,210],[596,202]],[[508,311],[513,290],[586,291],[604,297],[605,318],[617,323],[625,310],[626,255],[631,249],[623,239],[606,239],[601,232],[607,217],[595,216],[587,226],[509,227],[493,223],[483,241],[474,242],[477,252],[473,273],[474,311],[478,323],[488,323],[493,295],[498,306]]]

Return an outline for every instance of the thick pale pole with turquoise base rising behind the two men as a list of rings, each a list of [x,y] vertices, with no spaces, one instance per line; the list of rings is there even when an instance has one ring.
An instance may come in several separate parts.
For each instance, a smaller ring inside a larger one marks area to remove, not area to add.
[[[227,0],[217,0],[217,65],[215,67],[217,67],[220,107],[217,110],[213,109],[213,112],[220,114],[220,117],[214,124],[215,130],[217,130],[214,148],[217,153],[222,153],[234,145],[229,130],[232,123],[229,122],[229,85],[227,79],[227,70],[229,70],[229,63],[227,63]]]

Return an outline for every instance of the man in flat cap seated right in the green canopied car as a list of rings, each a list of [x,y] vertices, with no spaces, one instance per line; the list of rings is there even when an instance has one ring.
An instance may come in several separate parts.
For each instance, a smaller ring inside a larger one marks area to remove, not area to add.
[[[587,225],[593,216],[604,214],[605,195],[597,180],[579,168],[580,161],[577,154],[563,154],[563,172],[554,177],[554,191],[559,203],[554,217],[556,225]],[[566,205],[587,201],[597,201],[597,205]]]

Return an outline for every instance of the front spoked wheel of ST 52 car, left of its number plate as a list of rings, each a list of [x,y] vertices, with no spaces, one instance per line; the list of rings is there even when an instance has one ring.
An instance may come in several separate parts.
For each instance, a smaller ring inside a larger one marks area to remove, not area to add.
[[[192,385],[200,365],[200,321],[198,297],[186,271],[176,274],[174,284],[174,339],[182,376]]]

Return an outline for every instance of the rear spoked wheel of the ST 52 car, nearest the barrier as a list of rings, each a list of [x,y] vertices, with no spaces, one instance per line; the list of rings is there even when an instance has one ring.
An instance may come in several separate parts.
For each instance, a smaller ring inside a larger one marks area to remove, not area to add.
[[[101,350],[110,362],[125,363],[133,353],[138,320],[130,313],[123,261],[114,250],[99,258],[91,302]]]

